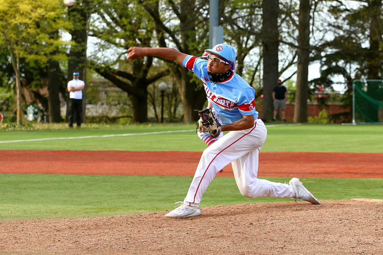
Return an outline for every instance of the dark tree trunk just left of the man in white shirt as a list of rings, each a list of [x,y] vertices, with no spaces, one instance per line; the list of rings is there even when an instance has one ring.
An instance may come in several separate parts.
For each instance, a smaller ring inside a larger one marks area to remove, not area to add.
[[[62,122],[59,97],[60,87],[62,85],[60,77],[61,72],[59,62],[50,59],[48,62],[49,123]]]

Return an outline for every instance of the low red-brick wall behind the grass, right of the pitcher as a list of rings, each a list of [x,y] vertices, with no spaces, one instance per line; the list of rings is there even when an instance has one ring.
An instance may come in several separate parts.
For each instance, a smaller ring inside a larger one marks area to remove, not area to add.
[[[255,107],[257,111],[260,113],[260,117],[262,118],[262,111],[263,111],[263,105],[262,102],[256,102]],[[294,103],[287,103],[286,105],[286,121],[292,122],[294,118]],[[318,116],[319,112],[323,109],[326,109],[327,114],[334,114],[334,113],[342,113],[345,111],[351,111],[350,108],[342,108],[341,103],[331,103],[331,105],[318,105],[317,103],[308,103],[307,105],[307,116],[314,118],[315,116]],[[339,121],[341,123],[342,121]]]

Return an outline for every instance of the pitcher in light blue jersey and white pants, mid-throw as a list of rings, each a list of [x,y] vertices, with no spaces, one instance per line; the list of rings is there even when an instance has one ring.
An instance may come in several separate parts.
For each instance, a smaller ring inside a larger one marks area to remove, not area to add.
[[[165,217],[183,218],[200,215],[199,203],[206,188],[226,165],[231,163],[237,186],[247,198],[295,198],[319,204],[299,181],[275,183],[257,178],[258,155],[267,135],[263,121],[255,111],[255,91],[234,72],[236,52],[229,44],[207,49],[208,61],[170,48],[130,47],[128,60],[157,56],[174,60],[203,82],[209,102],[222,121],[222,130],[230,131],[207,147],[201,156],[187,196],[180,206]]]

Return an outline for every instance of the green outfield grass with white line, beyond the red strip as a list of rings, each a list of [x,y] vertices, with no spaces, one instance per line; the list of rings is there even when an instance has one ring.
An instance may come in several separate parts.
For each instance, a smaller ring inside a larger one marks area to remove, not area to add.
[[[343,126],[334,124],[267,125],[268,135],[262,151],[307,152],[383,152],[383,127],[380,125]],[[144,134],[164,131],[187,131],[164,134]],[[195,125],[156,124],[113,126],[105,129],[42,129],[36,131],[0,132],[0,150],[131,150],[201,151],[201,141]],[[138,135],[140,134],[141,135]],[[130,134],[121,136],[123,134]],[[134,134],[134,135],[132,135]],[[102,137],[119,135],[111,137]],[[97,136],[97,137],[91,137]],[[67,139],[57,139],[57,138]],[[68,139],[72,137],[72,139]],[[89,137],[73,139],[78,137]],[[15,140],[56,138],[47,141],[7,142]],[[2,143],[3,142],[3,143]]]

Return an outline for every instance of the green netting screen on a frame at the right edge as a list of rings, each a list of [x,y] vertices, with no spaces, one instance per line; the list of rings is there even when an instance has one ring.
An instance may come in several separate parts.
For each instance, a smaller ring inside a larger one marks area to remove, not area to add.
[[[354,80],[352,123],[383,124],[383,80]]]

